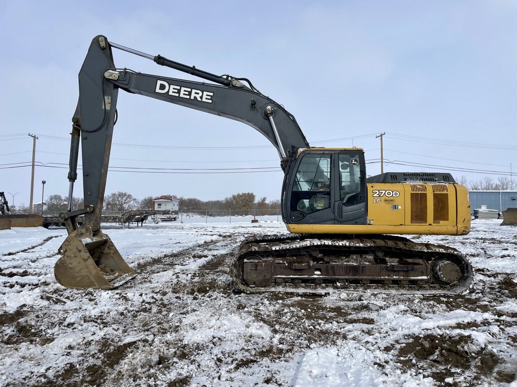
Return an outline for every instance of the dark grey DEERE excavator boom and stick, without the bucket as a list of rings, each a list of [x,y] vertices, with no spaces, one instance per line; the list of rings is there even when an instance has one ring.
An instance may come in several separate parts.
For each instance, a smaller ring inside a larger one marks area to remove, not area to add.
[[[116,70],[112,46],[153,58],[163,66],[207,78],[219,85],[141,74],[126,69]],[[283,160],[283,167],[297,149],[309,147],[298,123],[287,110],[258,90],[245,86],[240,80],[181,65],[160,55],[151,57],[118,44],[110,45],[107,38],[97,36],[90,44],[79,73],[79,102],[72,119],[68,175],[71,203],[73,182],[77,179],[81,138],[84,204],[89,209],[85,214],[85,223],[90,224],[94,231],[99,229],[100,224],[118,89],[244,122],[262,133],[275,146]]]

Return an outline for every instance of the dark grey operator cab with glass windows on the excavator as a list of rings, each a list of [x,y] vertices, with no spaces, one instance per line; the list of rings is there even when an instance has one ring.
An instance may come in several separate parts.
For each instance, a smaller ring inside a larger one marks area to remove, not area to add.
[[[362,149],[306,149],[288,169],[282,197],[286,223],[366,224]]]

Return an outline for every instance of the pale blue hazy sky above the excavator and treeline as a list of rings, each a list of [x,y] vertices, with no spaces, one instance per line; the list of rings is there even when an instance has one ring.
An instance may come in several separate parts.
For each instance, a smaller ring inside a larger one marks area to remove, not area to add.
[[[109,41],[246,77],[311,146],[358,147],[367,173],[517,179],[513,1],[0,2],[0,191],[68,195],[71,118],[88,46]],[[117,68],[195,79],[114,50]],[[276,149],[250,126],[121,91],[106,193],[280,199]],[[79,164],[81,165],[81,159]],[[134,168],[144,168],[136,170]],[[158,169],[159,168],[159,169]],[[236,169],[238,168],[238,169]],[[160,172],[160,173],[157,173]],[[82,197],[82,181],[74,186]]]

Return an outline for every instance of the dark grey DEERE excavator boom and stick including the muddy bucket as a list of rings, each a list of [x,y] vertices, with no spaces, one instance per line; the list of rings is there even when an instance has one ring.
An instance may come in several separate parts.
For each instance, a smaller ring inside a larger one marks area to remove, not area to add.
[[[210,83],[119,70],[113,60],[113,47]],[[284,170],[298,149],[309,147],[293,115],[247,79],[219,76],[110,43],[101,35],[95,37],[79,72],[79,101],[72,118],[68,212],[60,214],[69,236],[59,249],[63,256],[54,268],[57,281],[68,287],[110,288],[121,277],[134,273],[100,230],[119,89],[244,122],[273,144]],[[80,144],[84,209],[71,211]],[[79,215],[84,215],[81,227],[75,220]]]

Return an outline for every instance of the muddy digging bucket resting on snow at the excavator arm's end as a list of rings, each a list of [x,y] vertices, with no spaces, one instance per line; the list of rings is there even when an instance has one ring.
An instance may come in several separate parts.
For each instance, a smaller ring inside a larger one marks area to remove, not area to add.
[[[54,266],[58,283],[79,289],[112,289],[135,276],[106,234],[78,229],[59,248]]]

